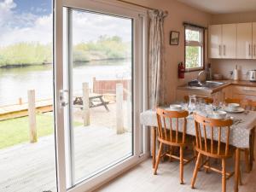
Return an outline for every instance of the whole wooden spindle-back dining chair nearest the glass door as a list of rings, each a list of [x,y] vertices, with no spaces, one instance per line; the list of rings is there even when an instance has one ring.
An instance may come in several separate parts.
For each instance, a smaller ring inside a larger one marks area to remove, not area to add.
[[[157,169],[160,163],[160,158],[168,156],[180,161],[180,183],[183,184],[183,166],[188,164],[194,157],[187,160],[183,158],[183,151],[185,147],[192,145],[192,139],[186,136],[186,126],[189,112],[188,111],[167,111],[165,109],[157,108],[157,139],[160,143],[160,149],[157,154],[154,175],[157,174]],[[179,129],[179,121],[183,120],[182,127]],[[170,151],[163,152],[164,145],[169,146]],[[179,156],[172,154],[172,147],[179,148]]]

